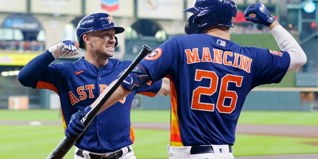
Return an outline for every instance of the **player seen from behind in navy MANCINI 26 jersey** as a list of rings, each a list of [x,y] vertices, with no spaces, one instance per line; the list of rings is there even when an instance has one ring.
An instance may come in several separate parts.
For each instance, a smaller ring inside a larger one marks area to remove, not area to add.
[[[230,40],[237,13],[233,0],[195,0],[183,11],[193,13],[185,25],[187,35],[169,39],[145,57],[138,64],[141,71],[125,79],[100,113],[138,88],[129,83],[168,77],[169,159],[234,159],[235,129],[248,92],[280,82],[306,63],[306,54],[261,3],[249,5],[244,17],[267,26],[281,51],[243,47]]]

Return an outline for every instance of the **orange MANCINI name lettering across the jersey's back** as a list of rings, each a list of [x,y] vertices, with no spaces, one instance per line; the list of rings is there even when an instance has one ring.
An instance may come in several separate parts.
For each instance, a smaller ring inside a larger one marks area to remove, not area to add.
[[[209,48],[202,48],[202,51],[199,51],[198,48],[193,48],[192,50],[186,49],[184,52],[187,57],[187,64],[210,62],[239,68],[247,73],[250,73],[253,61],[244,55],[219,49],[213,49],[211,51]]]

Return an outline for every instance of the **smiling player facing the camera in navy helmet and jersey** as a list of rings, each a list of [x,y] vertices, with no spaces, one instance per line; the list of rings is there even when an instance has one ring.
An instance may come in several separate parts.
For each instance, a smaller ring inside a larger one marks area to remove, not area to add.
[[[117,45],[115,34],[124,30],[116,26],[112,16],[107,13],[89,14],[81,19],[76,31],[79,48],[85,49],[85,57],[74,63],[51,64],[57,57],[70,57],[79,53],[73,42],[63,41],[26,64],[18,80],[24,86],[55,91],[60,96],[66,128],[72,114],[93,103],[117,79],[117,75],[132,63],[110,59]],[[161,82],[159,80],[136,89],[97,115],[81,140],[75,144],[74,159],[136,159],[131,146],[135,137],[130,122],[132,101],[136,93],[151,97],[157,93],[167,94],[169,82],[165,84],[166,87]],[[166,89],[165,92],[160,89],[161,86]],[[79,135],[82,129],[70,126],[65,135]]]

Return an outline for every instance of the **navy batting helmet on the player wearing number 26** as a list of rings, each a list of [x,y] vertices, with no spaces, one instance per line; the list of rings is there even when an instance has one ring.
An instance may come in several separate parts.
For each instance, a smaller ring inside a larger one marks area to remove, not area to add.
[[[196,34],[212,25],[234,26],[237,15],[234,0],[194,0],[193,6],[182,11],[194,13],[185,25],[186,34]]]

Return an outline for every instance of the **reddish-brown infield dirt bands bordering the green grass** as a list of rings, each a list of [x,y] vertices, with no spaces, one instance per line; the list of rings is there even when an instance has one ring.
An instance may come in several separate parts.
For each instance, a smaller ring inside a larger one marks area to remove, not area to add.
[[[62,125],[58,121],[0,121],[0,125]],[[135,129],[170,130],[169,123],[134,122]],[[318,138],[318,126],[239,124],[236,134]],[[318,147],[318,143],[310,143]],[[318,149],[318,148],[317,148]],[[235,159],[318,159],[318,154],[236,157]]]

